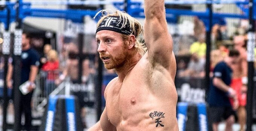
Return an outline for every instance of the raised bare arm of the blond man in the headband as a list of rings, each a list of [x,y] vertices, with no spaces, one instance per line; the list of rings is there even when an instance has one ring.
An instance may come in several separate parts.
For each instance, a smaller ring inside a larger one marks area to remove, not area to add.
[[[172,38],[169,34],[164,0],[145,1],[144,39],[149,61],[169,68],[172,56]]]

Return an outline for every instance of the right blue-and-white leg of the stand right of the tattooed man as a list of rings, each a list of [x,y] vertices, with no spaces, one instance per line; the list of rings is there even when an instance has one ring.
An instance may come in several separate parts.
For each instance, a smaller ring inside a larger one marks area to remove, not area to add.
[[[208,123],[207,123],[207,112],[205,103],[197,104],[198,111],[198,124],[200,131],[208,131]]]

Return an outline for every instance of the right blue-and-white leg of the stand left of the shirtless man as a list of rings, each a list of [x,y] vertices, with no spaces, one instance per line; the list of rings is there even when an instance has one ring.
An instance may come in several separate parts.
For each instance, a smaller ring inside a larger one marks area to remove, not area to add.
[[[76,131],[75,97],[66,97],[67,131]]]

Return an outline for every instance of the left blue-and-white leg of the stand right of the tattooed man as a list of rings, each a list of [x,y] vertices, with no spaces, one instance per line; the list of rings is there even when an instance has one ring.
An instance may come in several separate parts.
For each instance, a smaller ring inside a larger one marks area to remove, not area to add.
[[[179,131],[186,130],[186,119],[187,119],[187,103],[179,102],[177,107],[177,119]]]

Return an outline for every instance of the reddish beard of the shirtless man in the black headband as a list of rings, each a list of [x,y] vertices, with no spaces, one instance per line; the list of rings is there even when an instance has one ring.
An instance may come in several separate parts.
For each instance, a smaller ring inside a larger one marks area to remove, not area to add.
[[[108,57],[109,60],[104,63],[103,57]],[[127,51],[125,51],[124,46],[122,46],[122,50],[120,52],[118,52],[116,57],[113,57],[112,55],[100,53],[100,58],[103,61],[105,68],[108,70],[117,69],[117,68],[122,67],[126,63],[126,60],[128,60],[127,57],[129,57],[129,56],[128,56]]]

